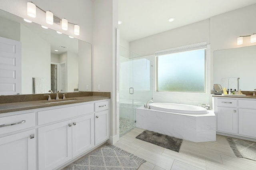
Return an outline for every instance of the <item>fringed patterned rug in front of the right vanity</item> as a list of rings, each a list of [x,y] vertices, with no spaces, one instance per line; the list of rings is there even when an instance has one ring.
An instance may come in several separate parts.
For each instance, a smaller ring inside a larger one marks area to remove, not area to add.
[[[256,142],[229,137],[226,139],[236,157],[256,161]]]

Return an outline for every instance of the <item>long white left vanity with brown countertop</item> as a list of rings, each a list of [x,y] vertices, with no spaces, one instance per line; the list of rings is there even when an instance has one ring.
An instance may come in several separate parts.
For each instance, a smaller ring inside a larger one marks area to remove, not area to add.
[[[54,170],[100,146],[109,139],[109,98],[0,104],[1,168]]]

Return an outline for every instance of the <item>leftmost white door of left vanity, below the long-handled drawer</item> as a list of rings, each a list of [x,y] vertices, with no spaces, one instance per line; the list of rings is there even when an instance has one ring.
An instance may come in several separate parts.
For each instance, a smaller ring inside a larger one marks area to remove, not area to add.
[[[35,130],[28,130],[0,138],[0,169],[35,170]]]

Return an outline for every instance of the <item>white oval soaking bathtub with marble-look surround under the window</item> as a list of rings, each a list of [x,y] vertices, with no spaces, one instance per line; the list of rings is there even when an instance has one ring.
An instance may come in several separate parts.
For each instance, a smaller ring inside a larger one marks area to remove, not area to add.
[[[212,110],[175,103],[150,103],[136,109],[136,127],[192,142],[216,140],[216,117]]]

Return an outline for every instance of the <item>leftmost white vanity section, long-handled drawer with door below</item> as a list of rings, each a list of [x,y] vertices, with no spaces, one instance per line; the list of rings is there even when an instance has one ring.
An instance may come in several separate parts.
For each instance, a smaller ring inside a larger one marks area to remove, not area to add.
[[[36,169],[35,113],[0,117],[0,169]]]

